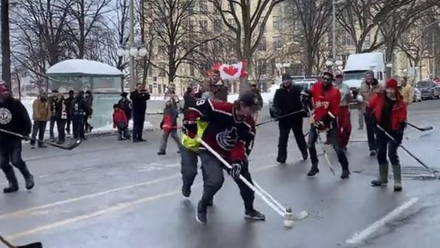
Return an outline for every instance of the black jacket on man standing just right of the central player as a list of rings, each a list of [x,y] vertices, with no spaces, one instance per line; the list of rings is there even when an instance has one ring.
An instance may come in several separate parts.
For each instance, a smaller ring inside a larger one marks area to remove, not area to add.
[[[274,109],[278,112],[278,116],[283,116],[292,112],[303,110],[304,106],[301,102],[301,92],[303,87],[299,85],[292,85],[289,89],[286,89],[281,85],[281,88],[276,90],[274,96]],[[304,112],[298,114],[292,114],[292,116],[287,116],[281,118],[280,122],[287,123],[292,120],[298,120],[298,118],[303,118],[305,116]]]

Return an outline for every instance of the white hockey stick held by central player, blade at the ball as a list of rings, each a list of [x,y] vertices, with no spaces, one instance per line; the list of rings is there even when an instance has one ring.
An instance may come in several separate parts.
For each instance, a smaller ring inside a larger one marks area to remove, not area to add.
[[[227,167],[228,169],[232,169],[232,166],[225,161],[224,158],[222,158],[217,152],[215,152],[214,149],[212,149],[212,147],[210,147],[210,145],[208,145],[205,141],[203,141],[201,138],[197,137],[197,141],[199,141],[204,147],[206,147],[206,149],[208,149],[208,151],[214,155],[217,159],[219,159],[219,161],[221,161],[221,163],[223,163],[223,165],[225,165],[225,167]],[[264,202],[269,205],[272,209],[274,209],[274,211],[276,211],[277,214],[283,216],[283,218],[287,221],[289,220],[303,220],[304,218],[306,218],[307,216],[309,216],[309,214],[307,213],[307,211],[302,211],[300,212],[300,214],[292,214],[292,208],[290,207],[282,207],[280,203],[278,203],[276,200],[269,200],[270,199],[274,199],[272,196],[270,196],[270,194],[268,194],[267,192],[262,192],[261,187],[259,186],[254,186],[252,185],[252,183],[250,183],[248,180],[246,180],[246,178],[244,176],[242,176],[241,174],[239,175],[239,179],[245,184],[247,185],[250,189],[252,189],[253,192],[255,192],[255,194],[257,194],[258,196],[260,196],[261,199],[264,200]],[[266,195],[268,197],[266,197]]]

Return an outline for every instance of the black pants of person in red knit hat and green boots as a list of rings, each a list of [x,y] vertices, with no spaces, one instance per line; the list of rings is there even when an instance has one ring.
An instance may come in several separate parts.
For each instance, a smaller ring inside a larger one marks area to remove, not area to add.
[[[388,132],[394,138],[397,138],[393,132]],[[397,154],[397,148],[399,147],[396,143],[391,141],[384,132],[377,130],[377,162],[380,165],[388,163],[386,161],[386,150],[388,147],[388,158],[390,158],[391,165],[400,165],[399,155]]]

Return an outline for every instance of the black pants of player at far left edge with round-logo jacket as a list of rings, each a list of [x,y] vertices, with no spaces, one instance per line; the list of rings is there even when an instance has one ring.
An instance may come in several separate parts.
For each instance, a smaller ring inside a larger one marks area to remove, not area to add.
[[[8,177],[8,180],[11,180],[15,174],[10,165],[14,165],[17,169],[20,170],[21,174],[27,178],[30,176],[28,171],[28,167],[26,167],[26,163],[21,158],[21,139],[19,138],[10,138],[8,141],[0,141],[0,169],[5,172],[5,175]]]

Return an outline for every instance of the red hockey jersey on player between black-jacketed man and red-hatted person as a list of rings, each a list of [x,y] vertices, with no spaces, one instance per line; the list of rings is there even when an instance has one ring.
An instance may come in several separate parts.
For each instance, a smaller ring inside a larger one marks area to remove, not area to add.
[[[310,93],[315,107],[314,121],[322,121],[327,114],[335,119],[338,117],[341,94],[336,87],[324,90],[322,82],[318,82],[311,87]]]

